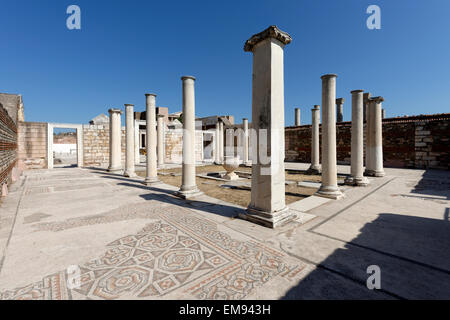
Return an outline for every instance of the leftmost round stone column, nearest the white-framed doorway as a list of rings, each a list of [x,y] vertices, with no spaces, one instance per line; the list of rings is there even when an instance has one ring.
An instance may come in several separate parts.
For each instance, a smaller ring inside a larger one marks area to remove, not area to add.
[[[122,110],[109,109],[109,172],[122,170]]]

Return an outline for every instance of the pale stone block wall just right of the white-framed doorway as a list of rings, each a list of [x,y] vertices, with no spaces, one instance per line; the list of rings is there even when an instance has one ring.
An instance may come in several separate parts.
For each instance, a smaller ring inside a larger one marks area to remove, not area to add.
[[[125,163],[125,128],[122,127],[122,162]],[[109,165],[109,124],[83,125],[83,164],[85,167]]]

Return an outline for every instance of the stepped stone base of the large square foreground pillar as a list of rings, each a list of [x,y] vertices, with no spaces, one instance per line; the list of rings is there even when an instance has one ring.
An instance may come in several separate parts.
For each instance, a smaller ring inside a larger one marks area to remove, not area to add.
[[[248,207],[246,213],[240,213],[239,217],[264,227],[275,229],[297,218],[297,214],[293,210],[289,210],[288,207],[276,212],[265,212]]]

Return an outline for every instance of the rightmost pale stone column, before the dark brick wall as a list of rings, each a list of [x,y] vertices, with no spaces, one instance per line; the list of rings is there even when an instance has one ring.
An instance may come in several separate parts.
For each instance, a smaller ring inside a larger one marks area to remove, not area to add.
[[[374,97],[369,100],[369,140],[367,150],[369,151],[369,163],[365,175],[383,177],[383,123],[381,119],[382,97]]]

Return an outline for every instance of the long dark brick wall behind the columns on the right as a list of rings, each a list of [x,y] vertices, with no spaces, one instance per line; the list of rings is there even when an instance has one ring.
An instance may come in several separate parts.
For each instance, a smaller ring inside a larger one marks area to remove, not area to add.
[[[450,114],[383,119],[384,165],[447,170],[449,136]],[[338,163],[350,164],[351,122],[336,124],[336,140]],[[311,125],[287,127],[285,148],[286,161],[311,162]]]

